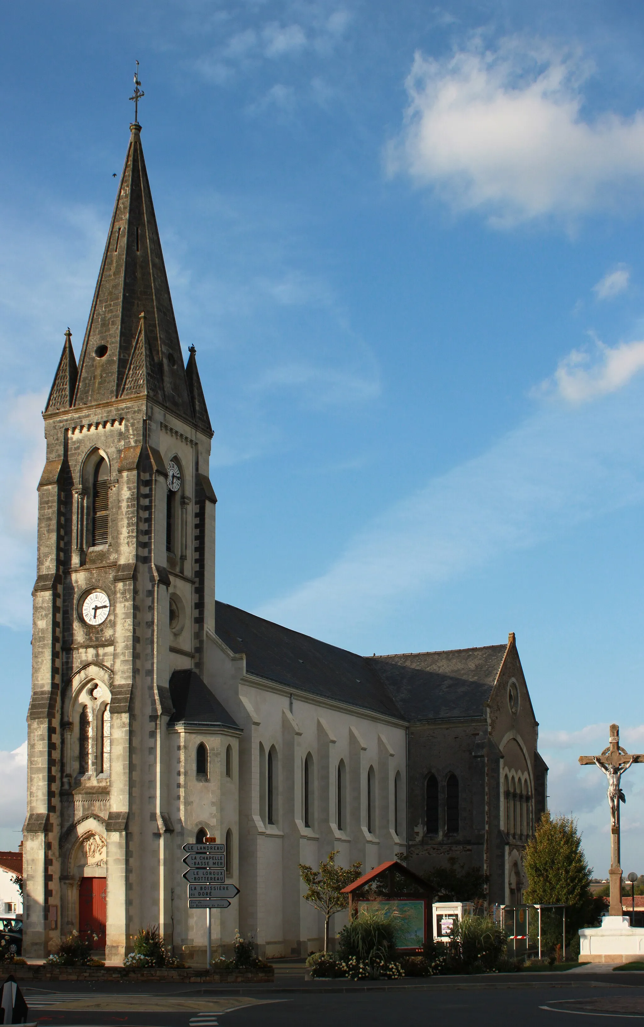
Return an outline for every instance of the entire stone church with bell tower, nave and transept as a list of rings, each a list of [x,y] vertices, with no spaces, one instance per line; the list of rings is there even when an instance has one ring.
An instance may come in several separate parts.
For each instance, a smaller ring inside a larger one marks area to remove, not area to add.
[[[239,888],[215,951],[235,929],[268,958],[318,948],[298,865],[332,849],[365,871],[401,852],[421,874],[473,868],[490,903],[521,901],[547,768],[514,634],[365,657],[216,600],[213,430],[138,119],[43,417],[24,954],[80,930],[120,962],[156,923],[203,964],[182,846],[206,836]]]

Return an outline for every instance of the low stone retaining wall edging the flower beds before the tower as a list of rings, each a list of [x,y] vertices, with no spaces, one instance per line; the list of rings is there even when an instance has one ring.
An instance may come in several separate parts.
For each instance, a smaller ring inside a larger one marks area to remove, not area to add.
[[[44,963],[3,963],[0,975],[16,981],[184,981],[190,984],[272,984],[272,966],[265,969],[207,971],[192,966],[51,966]]]

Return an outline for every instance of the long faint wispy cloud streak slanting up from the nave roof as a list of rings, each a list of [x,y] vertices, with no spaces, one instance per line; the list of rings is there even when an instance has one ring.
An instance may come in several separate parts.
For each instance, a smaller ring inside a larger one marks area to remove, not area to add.
[[[605,391],[605,390],[604,390]],[[329,570],[257,612],[366,645],[394,603],[581,521],[644,502],[644,389],[541,404],[487,452],[384,509]]]

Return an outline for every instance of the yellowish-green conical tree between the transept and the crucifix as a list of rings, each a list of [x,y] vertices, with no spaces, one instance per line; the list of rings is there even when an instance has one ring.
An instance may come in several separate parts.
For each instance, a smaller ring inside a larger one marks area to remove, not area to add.
[[[581,848],[577,822],[546,811],[537,824],[534,838],[526,845],[523,866],[528,876],[524,892],[527,903],[562,903],[566,922],[576,929],[597,918],[597,903],[591,892],[592,872]]]

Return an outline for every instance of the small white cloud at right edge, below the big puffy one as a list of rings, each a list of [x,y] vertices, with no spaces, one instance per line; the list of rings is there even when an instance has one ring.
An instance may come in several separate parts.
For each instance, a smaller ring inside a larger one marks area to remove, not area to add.
[[[571,350],[540,391],[570,404],[588,403],[622,388],[643,368],[644,342],[621,342],[614,347],[597,342],[595,360],[583,350]]]

